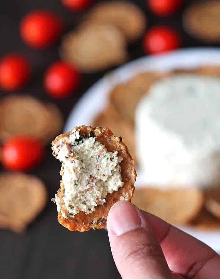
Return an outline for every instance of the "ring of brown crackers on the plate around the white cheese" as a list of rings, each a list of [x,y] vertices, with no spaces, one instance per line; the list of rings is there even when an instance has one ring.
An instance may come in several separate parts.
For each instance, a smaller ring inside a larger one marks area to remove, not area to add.
[[[143,95],[156,81],[176,73],[191,73],[220,78],[220,67],[203,66],[173,72],[139,73],[125,83],[118,84],[109,93],[108,106],[94,119],[94,126],[108,126],[115,135],[121,135],[138,166],[135,152],[134,111]],[[202,229],[220,228],[220,189],[202,192],[198,188],[161,190],[142,185],[134,192],[133,202],[172,224],[187,224]],[[196,185],[195,185],[196,186]]]

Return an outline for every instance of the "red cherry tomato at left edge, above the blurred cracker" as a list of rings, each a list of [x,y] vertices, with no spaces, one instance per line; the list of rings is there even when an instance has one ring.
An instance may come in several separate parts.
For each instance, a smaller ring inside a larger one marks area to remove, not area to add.
[[[30,65],[22,55],[10,54],[0,60],[0,86],[6,91],[21,88],[28,82]]]

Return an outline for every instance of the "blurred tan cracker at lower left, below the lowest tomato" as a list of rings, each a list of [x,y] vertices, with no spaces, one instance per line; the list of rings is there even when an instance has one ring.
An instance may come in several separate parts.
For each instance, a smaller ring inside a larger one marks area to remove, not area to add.
[[[46,204],[43,182],[32,175],[3,173],[0,175],[0,227],[24,231]]]

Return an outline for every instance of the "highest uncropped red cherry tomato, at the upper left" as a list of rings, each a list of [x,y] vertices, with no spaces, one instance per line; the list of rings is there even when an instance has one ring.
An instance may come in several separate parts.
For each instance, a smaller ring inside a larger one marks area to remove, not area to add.
[[[60,18],[48,11],[37,10],[26,15],[20,23],[24,42],[34,48],[45,48],[54,43],[61,34]]]

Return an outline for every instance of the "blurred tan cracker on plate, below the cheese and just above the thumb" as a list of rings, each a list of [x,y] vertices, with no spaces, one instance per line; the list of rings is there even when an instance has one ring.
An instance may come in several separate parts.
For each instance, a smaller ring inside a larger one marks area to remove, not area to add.
[[[200,212],[204,197],[194,188],[139,188],[135,190],[132,203],[168,223],[187,224]]]

